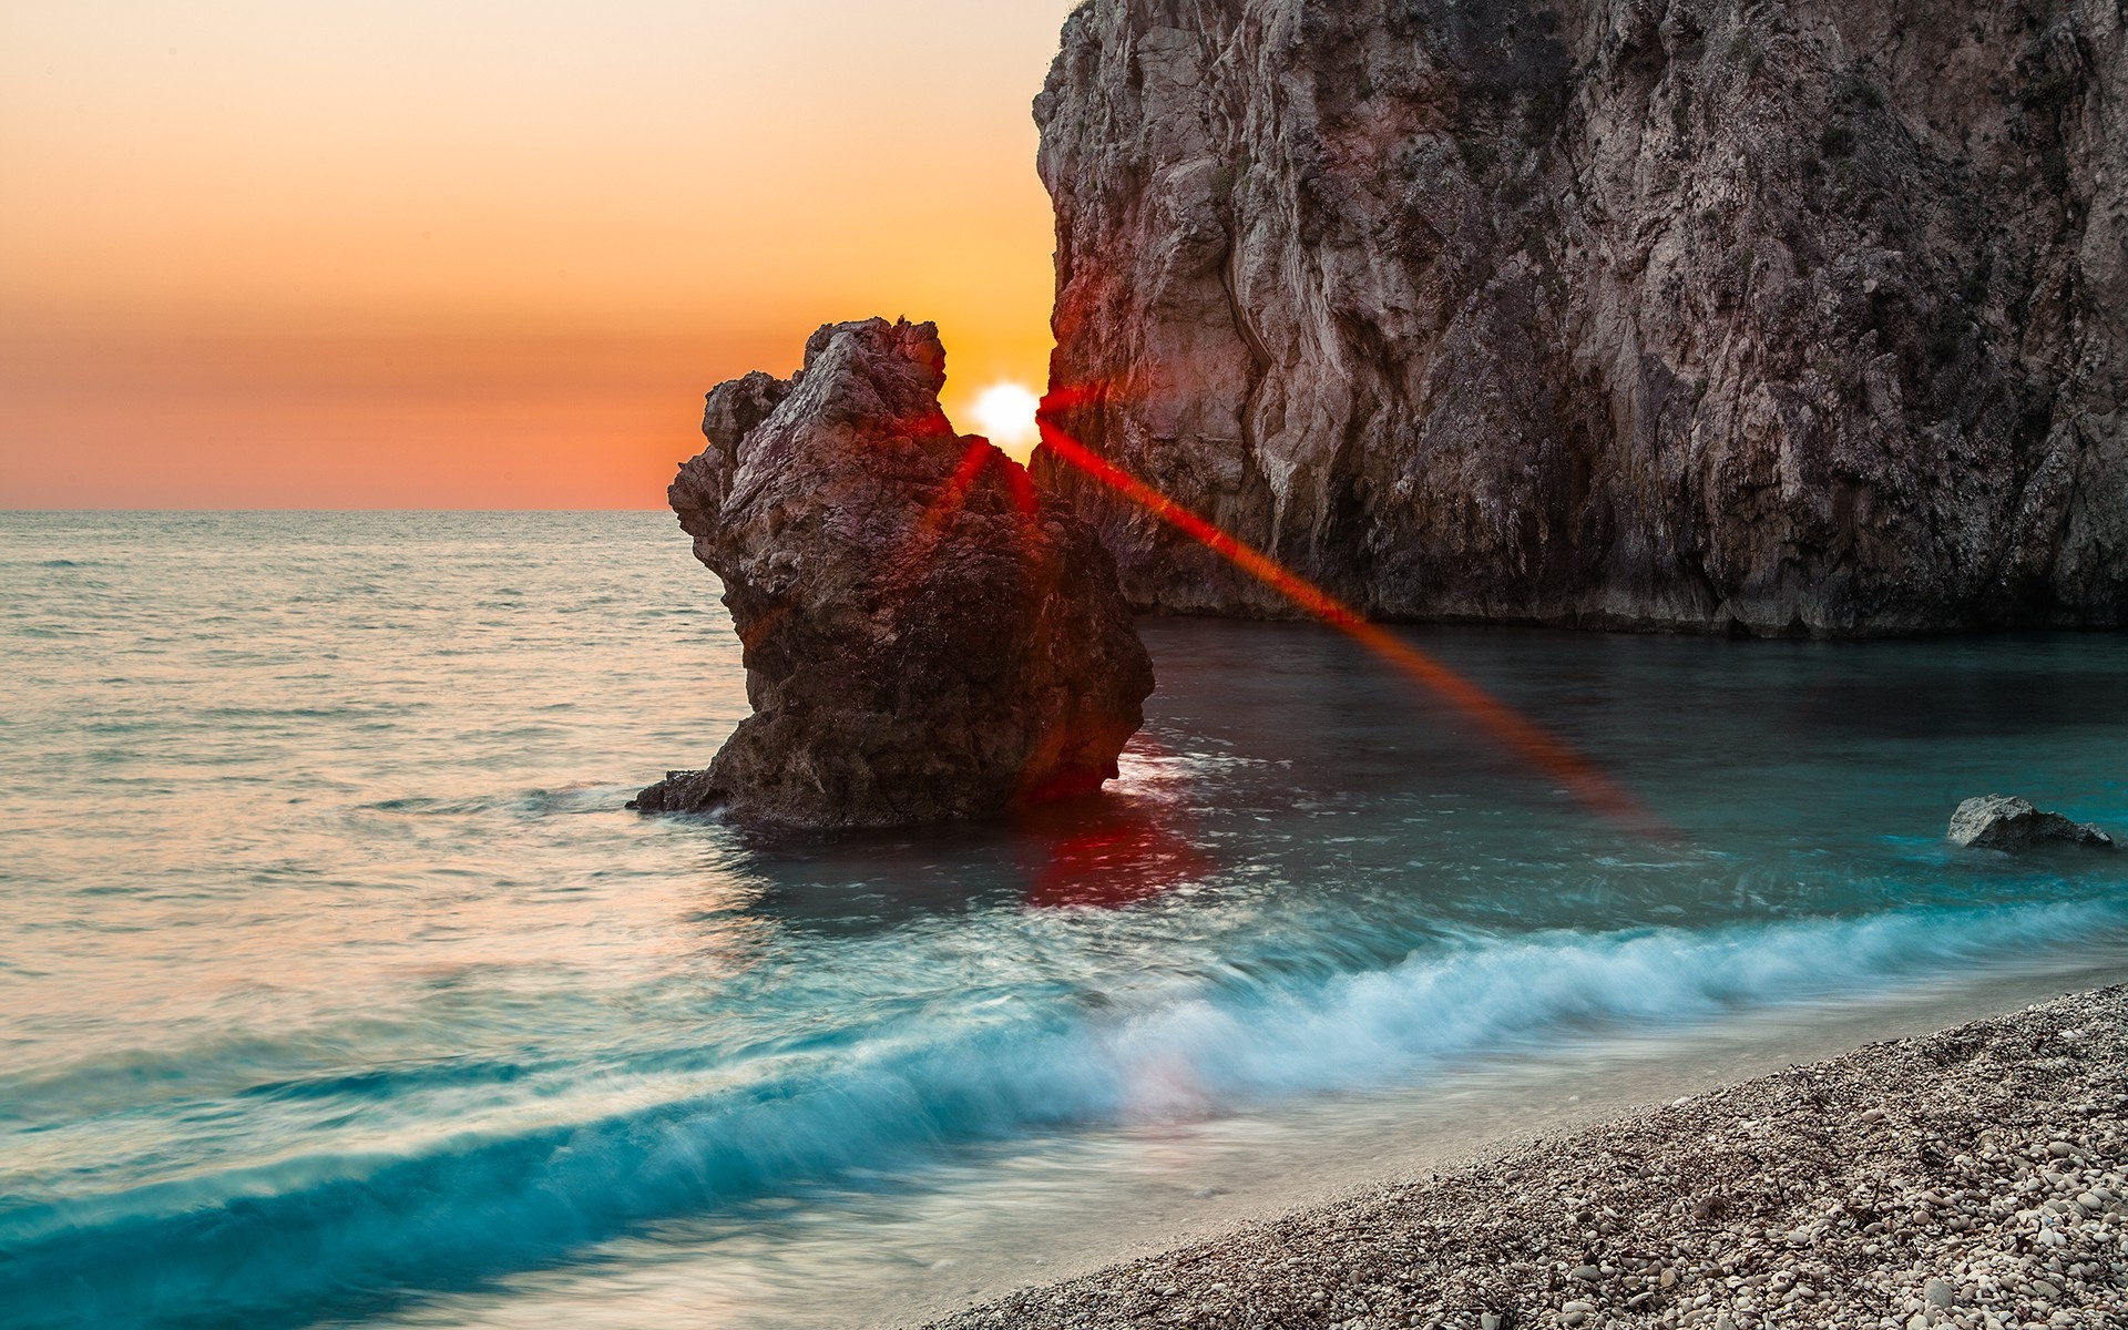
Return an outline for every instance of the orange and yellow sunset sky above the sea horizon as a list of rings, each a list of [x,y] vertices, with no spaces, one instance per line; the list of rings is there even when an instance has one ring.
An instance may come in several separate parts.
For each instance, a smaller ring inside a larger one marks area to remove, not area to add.
[[[936,319],[1041,387],[1075,0],[0,0],[0,509],[655,509]]]

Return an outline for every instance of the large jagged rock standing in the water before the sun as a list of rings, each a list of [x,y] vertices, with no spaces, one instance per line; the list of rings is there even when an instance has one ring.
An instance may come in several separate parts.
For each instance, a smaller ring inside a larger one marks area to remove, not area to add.
[[[938,409],[930,323],[838,323],[709,394],[672,481],[753,715],[632,807],[892,826],[1098,789],[1153,668],[1094,528]]]

